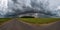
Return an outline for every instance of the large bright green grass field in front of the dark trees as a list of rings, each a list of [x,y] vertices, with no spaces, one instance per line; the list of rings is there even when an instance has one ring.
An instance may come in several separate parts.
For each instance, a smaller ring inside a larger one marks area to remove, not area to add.
[[[32,24],[45,24],[60,20],[60,18],[18,18],[18,19]]]

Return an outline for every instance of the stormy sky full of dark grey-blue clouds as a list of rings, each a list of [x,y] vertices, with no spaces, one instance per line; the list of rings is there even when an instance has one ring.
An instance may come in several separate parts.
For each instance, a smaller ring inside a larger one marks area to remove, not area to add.
[[[60,17],[60,0],[0,0],[0,18],[20,17],[24,14]]]

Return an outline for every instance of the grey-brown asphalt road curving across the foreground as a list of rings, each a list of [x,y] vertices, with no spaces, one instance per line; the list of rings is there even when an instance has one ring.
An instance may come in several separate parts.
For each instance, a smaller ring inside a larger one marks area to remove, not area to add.
[[[60,21],[49,26],[30,26],[16,19],[0,26],[0,30],[60,30]]]

